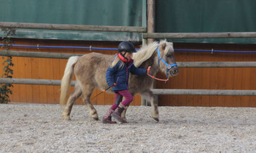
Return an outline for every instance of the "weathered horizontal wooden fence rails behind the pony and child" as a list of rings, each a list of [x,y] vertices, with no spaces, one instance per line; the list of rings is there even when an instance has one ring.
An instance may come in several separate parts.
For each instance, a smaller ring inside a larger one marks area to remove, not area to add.
[[[77,26],[77,25],[52,25],[52,24],[25,24],[25,23],[11,23],[11,22],[0,22],[0,27],[9,28],[35,28],[35,29],[48,29],[48,30],[95,30],[95,31],[116,31],[121,32],[145,32],[145,28],[137,27],[115,27],[115,26]],[[51,28],[52,27],[52,28]],[[148,38],[256,38],[256,32],[220,32],[220,33],[142,33],[143,43],[146,43]],[[46,55],[48,54],[48,55]],[[1,51],[1,56],[23,56],[23,57],[40,57],[40,58],[68,58],[72,55],[67,55],[64,53],[26,53],[15,51],[4,52]],[[76,55],[77,56],[77,55]],[[255,67],[255,62],[181,62],[178,63],[179,67]],[[20,79],[1,79],[0,83],[12,82],[26,84],[30,82],[29,80]],[[40,82],[40,80],[34,80],[35,83]],[[42,80],[41,80],[42,81]],[[46,81],[46,80],[44,80]],[[46,81],[46,82],[53,82]],[[55,82],[55,81],[54,81]],[[59,81],[56,81],[59,82]],[[57,85],[59,83],[56,83]],[[192,89],[152,89],[155,94],[168,94],[168,95],[255,95],[256,90],[192,90]]]

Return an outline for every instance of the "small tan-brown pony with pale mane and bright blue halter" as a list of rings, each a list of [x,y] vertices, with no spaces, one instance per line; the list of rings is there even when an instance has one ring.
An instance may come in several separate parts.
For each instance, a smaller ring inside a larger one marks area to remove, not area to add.
[[[173,43],[161,40],[142,46],[140,51],[133,54],[135,66],[147,69],[151,66],[150,75],[155,76],[158,71],[166,74],[166,77],[174,77],[179,73],[178,66],[174,58]],[[60,105],[66,105],[62,113],[65,120],[70,120],[72,106],[78,97],[87,105],[90,117],[98,121],[98,113],[90,102],[90,96],[95,88],[108,88],[106,82],[106,69],[114,61],[114,55],[104,55],[101,53],[88,53],[84,56],[72,56],[67,61],[64,76],[61,79]],[[172,66],[171,66],[172,65]],[[76,77],[74,90],[69,94],[72,75]],[[169,75],[170,74],[170,75]],[[132,75],[129,76],[129,92],[134,96],[140,94],[151,104],[150,117],[159,121],[158,102],[150,88],[153,87],[153,77]],[[112,92],[107,90],[106,92]],[[127,109],[123,111],[121,117],[126,119]]]

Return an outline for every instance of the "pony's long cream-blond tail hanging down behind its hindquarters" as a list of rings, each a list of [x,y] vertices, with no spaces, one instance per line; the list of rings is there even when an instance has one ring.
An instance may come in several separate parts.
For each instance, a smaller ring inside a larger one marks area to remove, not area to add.
[[[77,63],[79,56],[72,56],[67,61],[67,65],[64,71],[64,76],[61,79],[61,95],[59,97],[59,104],[66,105],[68,100],[68,94],[70,89],[70,84],[74,72],[74,64]]]

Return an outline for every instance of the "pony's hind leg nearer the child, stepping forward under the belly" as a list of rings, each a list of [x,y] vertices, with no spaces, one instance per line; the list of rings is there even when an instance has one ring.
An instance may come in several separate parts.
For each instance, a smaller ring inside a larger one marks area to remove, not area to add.
[[[97,110],[94,108],[93,104],[90,102],[90,95],[93,93],[93,85],[86,84],[82,88],[82,101],[87,105],[90,111],[90,117],[93,118],[95,121],[98,121],[98,113]]]

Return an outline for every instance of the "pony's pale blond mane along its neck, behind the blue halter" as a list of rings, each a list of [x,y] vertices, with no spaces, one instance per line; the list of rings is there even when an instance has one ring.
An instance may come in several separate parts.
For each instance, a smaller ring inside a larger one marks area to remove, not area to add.
[[[148,60],[153,53],[156,51],[156,48],[158,48],[158,45],[161,45],[163,43],[167,43],[166,40],[161,40],[160,43],[153,42],[148,45],[142,46],[137,53],[133,54],[134,64],[136,67],[139,67],[144,61]],[[168,48],[166,48],[165,52],[168,51]]]

